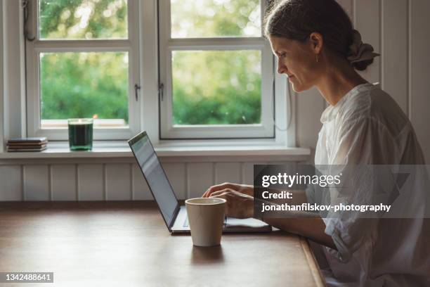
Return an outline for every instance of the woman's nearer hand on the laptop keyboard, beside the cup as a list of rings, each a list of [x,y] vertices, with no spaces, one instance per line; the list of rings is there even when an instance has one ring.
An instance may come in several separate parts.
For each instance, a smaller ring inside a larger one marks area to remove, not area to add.
[[[226,216],[248,218],[254,215],[254,198],[233,189],[214,191],[210,197],[224,198],[226,202]]]

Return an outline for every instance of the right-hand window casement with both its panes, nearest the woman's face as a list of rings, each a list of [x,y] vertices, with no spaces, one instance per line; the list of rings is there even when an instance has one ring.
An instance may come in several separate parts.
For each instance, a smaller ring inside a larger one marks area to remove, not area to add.
[[[275,136],[265,2],[159,1],[161,139]]]

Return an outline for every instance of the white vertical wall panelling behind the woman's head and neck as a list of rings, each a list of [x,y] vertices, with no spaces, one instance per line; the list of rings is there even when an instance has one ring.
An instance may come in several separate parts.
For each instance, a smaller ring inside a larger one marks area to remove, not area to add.
[[[430,11],[429,0],[337,0],[363,42],[381,56],[366,71],[379,82],[412,122],[426,162],[430,162]],[[297,146],[315,147],[326,103],[317,89],[296,97]]]

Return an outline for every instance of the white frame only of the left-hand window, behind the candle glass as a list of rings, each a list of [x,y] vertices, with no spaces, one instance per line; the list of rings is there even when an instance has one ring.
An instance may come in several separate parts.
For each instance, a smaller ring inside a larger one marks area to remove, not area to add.
[[[41,129],[39,54],[46,52],[128,52],[129,54],[129,127],[94,128],[93,139],[129,139],[141,129],[140,93],[135,93],[139,84],[139,19],[138,0],[128,0],[129,39],[91,39],[91,40],[39,40],[38,0],[30,0],[30,13],[27,30],[36,39],[26,40],[27,63],[27,134],[46,136],[50,140],[67,140],[67,127]]]

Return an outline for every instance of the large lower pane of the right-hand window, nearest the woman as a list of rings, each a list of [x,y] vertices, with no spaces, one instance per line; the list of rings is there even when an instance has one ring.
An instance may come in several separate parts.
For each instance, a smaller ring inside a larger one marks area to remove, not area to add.
[[[172,52],[174,125],[261,122],[261,51]]]

